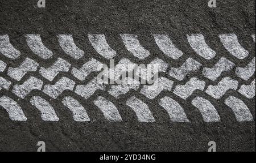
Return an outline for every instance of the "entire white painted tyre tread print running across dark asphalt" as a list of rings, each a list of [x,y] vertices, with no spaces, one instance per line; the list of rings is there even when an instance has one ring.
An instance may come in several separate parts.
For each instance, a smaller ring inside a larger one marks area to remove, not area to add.
[[[44,44],[40,35],[25,35],[28,47],[38,57],[42,59],[50,59],[53,56],[53,52],[49,50]],[[139,41],[137,35],[122,34],[120,35],[127,52],[133,55],[135,58],[142,60],[150,56],[150,51],[143,47]],[[171,59],[179,59],[184,53],[182,49],[176,48],[172,38],[168,35],[152,35],[155,39],[156,45],[160,49],[160,52]],[[81,59],[84,56],[84,50],[82,47],[78,47],[75,44],[75,40],[72,35],[57,35],[59,45],[65,54],[69,55],[73,59]],[[238,41],[238,37],[231,34],[219,35],[220,41],[224,48],[228,51],[230,56],[237,59],[245,59],[249,56],[249,51],[243,48]],[[255,35],[252,35],[255,42]],[[89,34],[88,39],[93,49],[106,59],[113,59],[117,52],[113,46],[108,44],[108,37],[103,34]],[[187,41],[192,50],[199,55],[199,57],[210,60],[216,57],[216,52],[212,46],[207,45],[205,38],[201,34],[187,35]],[[129,55],[130,55],[129,54]],[[8,35],[0,36],[0,55],[3,55],[9,59],[19,58],[20,52],[14,48],[10,43]],[[92,72],[102,73],[110,78],[109,71],[114,71],[117,74],[114,80],[125,72],[134,71],[136,63],[131,62],[127,58],[122,58],[114,69],[107,68],[102,71],[105,66],[103,63],[95,58],[91,58],[86,61],[81,67],[77,67],[69,63],[63,58],[57,58],[51,66],[40,66],[39,63],[31,58],[25,58],[18,66],[9,66],[7,63],[0,60],[0,92],[5,89],[10,91],[18,98],[30,98],[30,104],[34,106],[40,113],[43,121],[59,121],[57,114],[55,113],[55,106],[52,102],[47,101],[40,96],[29,96],[33,90],[40,91],[47,95],[49,98],[57,99],[62,98],[62,104],[65,108],[71,111],[74,121],[87,122],[90,121],[90,115],[86,112],[86,107],[82,106],[78,99],[75,97],[60,96],[64,91],[70,91],[76,95],[82,97],[84,100],[88,100],[94,92],[98,89],[106,91],[107,95],[113,96],[113,98],[120,98],[131,90],[137,92],[137,95],[148,98],[149,100],[157,100],[160,109],[166,111],[170,120],[173,122],[185,122],[189,123],[191,119],[188,119],[186,111],[183,105],[179,104],[179,101],[174,98],[165,96],[159,98],[162,92],[168,92],[172,96],[176,96],[180,100],[184,100],[191,104],[194,109],[198,109],[201,113],[204,122],[220,122],[220,115],[214,106],[214,102],[211,102],[207,97],[197,96],[192,100],[188,100],[188,97],[192,96],[195,91],[206,93],[211,99],[219,100],[224,97],[227,91],[237,91],[243,98],[252,99],[255,97],[255,57],[251,59],[247,66],[236,65],[236,62],[229,61],[225,57],[221,57],[212,67],[205,66],[199,62],[197,58],[188,57],[180,66],[172,66],[159,58],[154,58],[151,64],[160,65],[159,72],[168,74],[166,76],[160,76],[158,80],[152,85],[142,85],[136,83],[134,80],[128,79],[132,84],[119,84],[110,85],[109,89],[106,89],[106,84],[99,83],[97,78],[90,79],[88,83],[76,84],[76,80],[69,78],[73,76],[77,81],[84,81]],[[131,70],[127,70],[123,65],[133,65]],[[167,71],[168,70],[168,71]],[[238,78],[246,83],[242,83],[239,87],[240,80],[236,80],[230,77],[223,77],[222,74],[233,71]],[[142,69],[139,69],[135,74],[139,75]],[[27,76],[28,72],[39,72],[38,76]],[[2,74],[3,75],[2,75]],[[154,74],[155,72],[153,72]],[[67,75],[65,75],[67,74]],[[189,74],[200,74],[198,76],[189,77]],[[8,78],[5,78],[8,76]],[[59,76],[59,77],[58,77]],[[222,76],[222,77],[220,77]],[[59,78],[57,81],[51,84],[48,81],[53,81],[55,78]],[[139,76],[142,78],[142,76]],[[203,78],[201,78],[203,77]],[[26,78],[26,79],[23,79]],[[12,80],[10,80],[12,79]],[[22,84],[16,84],[17,81],[22,80]],[[145,79],[148,80],[148,79]],[[187,80],[185,84],[180,84],[181,81]],[[217,82],[216,82],[217,80]],[[251,81],[248,84],[248,81]],[[253,81],[252,81],[253,80]],[[208,84],[214,81],[214,84]],[[81,82],[80,82],[81,83]],[[216,84],[217,83],[217,84]],[[11,89],[10,89],[11,88]],[[250,109],[240,97],[229,96],[225,98],[224,104],[227,109],[231,109],[234,113],[234,117],[238,122],[254,121],[253,115]],[[127,108],[134,111],[139,122],[156,122],[154,114],[151,111],[147,102],[142,101],[138,96],[132,96],[126,99],[125,105]],[[106,97],[98,96],[93,100],[95,109],[102,111],[102,114],[107,121],[121,122],[122,114],[119,113],[119,108],[115,106],[115,103]],[[8,97],[7,95],[0,96],[0,108],[3,108],[9,114],[12,121],[26,121],[26,115],[23,113],[22,107],[18,102]]]

